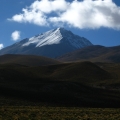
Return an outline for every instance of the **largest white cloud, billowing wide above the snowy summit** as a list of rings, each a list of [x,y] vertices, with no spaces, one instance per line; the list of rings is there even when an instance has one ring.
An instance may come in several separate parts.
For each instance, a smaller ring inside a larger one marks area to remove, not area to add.
[[[67,24],[80,29],[107,27],[120,30],[120,7],[112,0],[36,0],[10,21],[39,26]]]

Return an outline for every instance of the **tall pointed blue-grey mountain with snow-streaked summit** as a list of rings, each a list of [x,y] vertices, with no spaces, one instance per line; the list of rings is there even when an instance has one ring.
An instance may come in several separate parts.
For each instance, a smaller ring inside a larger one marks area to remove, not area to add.
[[[56,58],[91,45],[86,38],[74,35],[64,28],[57,28],[6,47],[0,50],[0,55],[27,54]]]

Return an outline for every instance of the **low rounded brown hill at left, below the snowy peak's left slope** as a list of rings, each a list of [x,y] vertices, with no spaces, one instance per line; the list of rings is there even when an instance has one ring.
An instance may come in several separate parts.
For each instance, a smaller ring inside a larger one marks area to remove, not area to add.
[[[54,65],[60,64],[59,61],[34,55],[13,55],[6,54],[0,56],[0,64],[18,64],[25,66],[43,66],[43,65]]]

